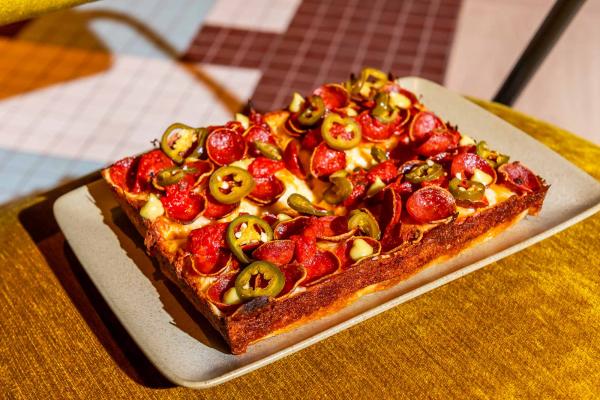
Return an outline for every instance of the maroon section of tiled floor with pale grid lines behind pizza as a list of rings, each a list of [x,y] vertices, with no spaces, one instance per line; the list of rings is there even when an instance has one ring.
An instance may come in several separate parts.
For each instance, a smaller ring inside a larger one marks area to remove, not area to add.
[[[204,26],[188,61],[259,68],[259,110],[364,66],[441,82],[461,0],[303,0],[282,34]]]

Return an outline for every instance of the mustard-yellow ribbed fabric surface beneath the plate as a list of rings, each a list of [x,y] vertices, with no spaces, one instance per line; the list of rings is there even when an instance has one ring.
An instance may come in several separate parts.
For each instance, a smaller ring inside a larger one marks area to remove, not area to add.
[[[600,179],[600,148],[480,102]],[[52,214],[90,175],[0,209],[0,395],[9,398],[592,398],[600,214],[274,364],[205,391],[149,363]],[[2,397],[2,396],[0,396]]]

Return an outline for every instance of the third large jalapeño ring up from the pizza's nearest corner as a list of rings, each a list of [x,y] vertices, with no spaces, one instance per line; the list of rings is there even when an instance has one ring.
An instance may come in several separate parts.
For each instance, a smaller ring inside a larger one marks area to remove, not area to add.
[[[228,165],[210,176],[208,189],[218,202],[234,204],[254,189],[254,179],[246,170]]]

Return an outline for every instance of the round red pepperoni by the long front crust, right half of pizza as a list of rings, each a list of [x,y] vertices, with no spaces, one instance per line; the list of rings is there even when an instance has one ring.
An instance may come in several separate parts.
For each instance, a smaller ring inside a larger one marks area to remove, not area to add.
[[[415,221],[427,224],[452,216],[456,212],[456,201],[446,189],[428,186],[408,198],[406,211]]]

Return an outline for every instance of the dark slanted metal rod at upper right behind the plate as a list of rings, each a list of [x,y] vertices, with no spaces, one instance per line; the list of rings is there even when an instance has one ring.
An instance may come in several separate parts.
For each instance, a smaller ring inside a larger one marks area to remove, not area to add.
[[[494,101],[512,105],[585,0],[557,0],[498,90]]]

